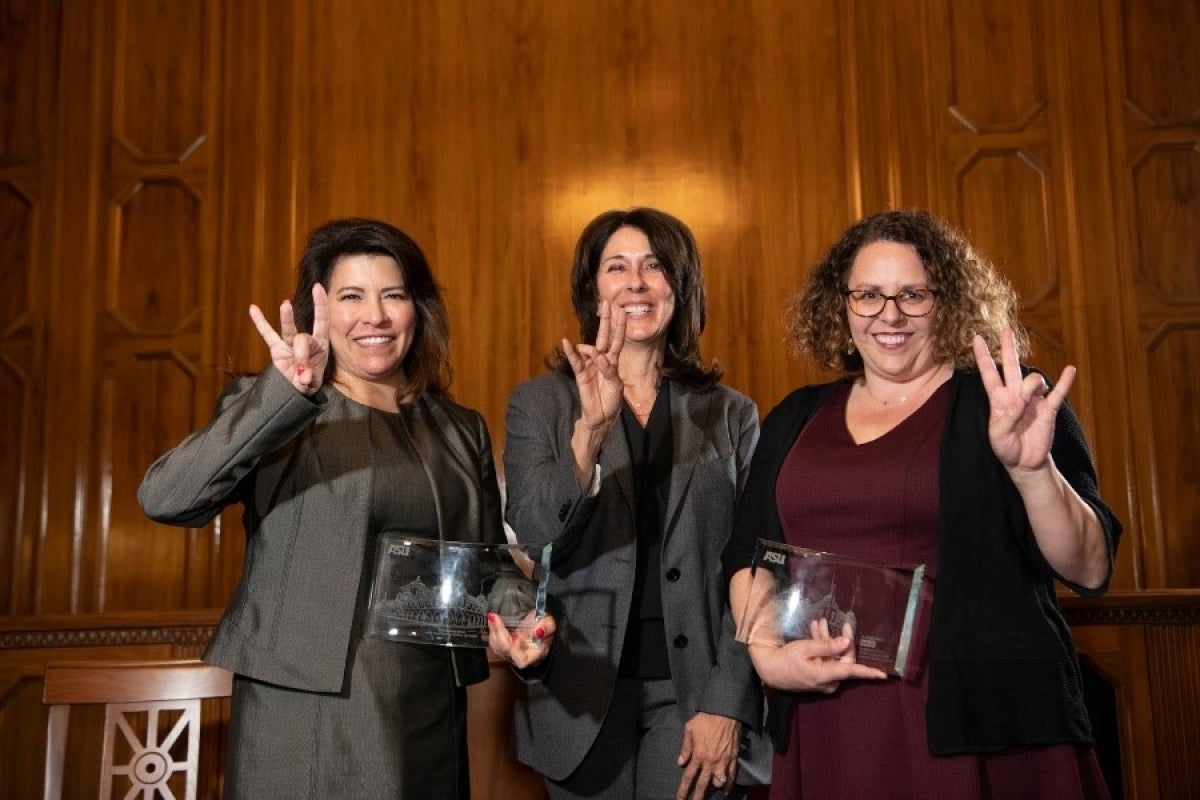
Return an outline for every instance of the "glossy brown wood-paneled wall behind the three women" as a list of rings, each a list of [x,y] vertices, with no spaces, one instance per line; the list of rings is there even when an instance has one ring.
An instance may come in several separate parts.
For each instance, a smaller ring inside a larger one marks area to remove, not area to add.
[[[575,327],[608,207],[695,229],[703,344],[763,411],[781,314],[854,218],[924,205],[1019,287],[1127,524],[1115,587],[1200,587],[1200,0],[0,0],[0,615],[196,609],[236,512],[149,523],[146,465],[265,349],[305,233],[388,218],[457,398]]]

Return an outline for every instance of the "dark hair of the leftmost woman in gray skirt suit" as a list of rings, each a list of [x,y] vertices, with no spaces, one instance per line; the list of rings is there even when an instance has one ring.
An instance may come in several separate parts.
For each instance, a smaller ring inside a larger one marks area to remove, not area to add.
[[[450,367],[449,315],[442,290],[425,253],[395,225],[379,219],[347,217],[326,222],[308,235],[292,299],[296,330],[312,332],[312,287],[320,283],[328,291],[334,266],[344,255],[390,255],[400,265],[404,288],[416,306],[416,333],[401,363],[406,381],[401,401],[415,401],[426,392],[446,397],[454,372]],[[332,377],[335,367],[334,354],[330,353],[326,379]]]

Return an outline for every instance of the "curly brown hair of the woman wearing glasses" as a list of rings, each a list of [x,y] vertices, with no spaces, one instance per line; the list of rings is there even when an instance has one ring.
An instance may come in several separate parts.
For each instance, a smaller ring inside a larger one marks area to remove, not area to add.
[[[920,209],[881,211],[859,219],[812,266],[786,312],[787,333],[799,353],[826,369],[862,374],[863,356],[853,348],[845,290],[858,252],[876,241],[917,251],[929,287],[937,290],[931,339],[938,360],[956,368],[974,367],[971,342],[977,333],[998,357],[1006,327],[1013,330],[1018,356],[1026,355],[1028,336],[1016,320],[1020,302],[1013,284],[962,233]]]

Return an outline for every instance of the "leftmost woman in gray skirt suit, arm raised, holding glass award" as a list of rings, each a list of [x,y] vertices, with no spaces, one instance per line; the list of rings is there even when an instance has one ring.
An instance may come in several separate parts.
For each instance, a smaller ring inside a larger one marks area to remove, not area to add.
[[[311,235],[272,367],[235,379],[138,492],[163,523],[240,503],[241,582],[205,658],[236,674],[227,798],[467,800],[480,650],[364,638],[380,534],[503,541],[484,419],[450,402],[448,320],[416,243],[373,219]]]

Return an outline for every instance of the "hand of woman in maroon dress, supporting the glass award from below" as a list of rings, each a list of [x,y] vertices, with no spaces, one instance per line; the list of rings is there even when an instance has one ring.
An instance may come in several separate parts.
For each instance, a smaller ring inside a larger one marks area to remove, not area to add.
[[[824,620],[822,620],[823,622]],[[854,639],[844,630],[814,630],[814,638],[796,639],[782,646],[750,644],[750,661],[763,684],[790,692],[833,694],[850,679],[886,680],[887,673],[854,661]]]

